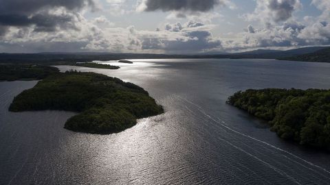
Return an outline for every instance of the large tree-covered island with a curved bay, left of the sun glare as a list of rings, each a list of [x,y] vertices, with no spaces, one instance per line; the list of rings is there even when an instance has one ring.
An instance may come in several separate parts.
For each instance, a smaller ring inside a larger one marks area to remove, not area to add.
[[[70,71],[50,75],[14,98],[10,111],[67,110],[79,112],[65,128],[91,134],[121,132],[136,119],[164,112],[135,84],[96,73]]]

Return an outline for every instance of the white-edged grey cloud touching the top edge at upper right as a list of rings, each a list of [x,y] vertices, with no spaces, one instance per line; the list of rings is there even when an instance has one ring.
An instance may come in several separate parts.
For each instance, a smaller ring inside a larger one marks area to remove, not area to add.
[[[279,23],[292,18],[292,14],[302,7],[299,0],[256,0],[256,9],[245,14],[248,21]]]

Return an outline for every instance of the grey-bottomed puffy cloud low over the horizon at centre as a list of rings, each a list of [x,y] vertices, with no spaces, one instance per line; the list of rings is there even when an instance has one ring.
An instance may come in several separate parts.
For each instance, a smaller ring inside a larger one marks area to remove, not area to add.
[[[221,40],[214,38],[208,31],[213,25],[203,25],[189,21],[168,24],[164,31],[140,32],[142,49],[166,51],[166,53],[196,53],[221,49]]]

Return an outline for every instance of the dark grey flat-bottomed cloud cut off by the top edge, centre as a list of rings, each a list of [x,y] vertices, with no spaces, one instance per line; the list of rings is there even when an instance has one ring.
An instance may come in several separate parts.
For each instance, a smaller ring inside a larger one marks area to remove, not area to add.
[[[144,11],[162,10],[164,12],[171,10],[189,10],[207,12],[212,10],[215,5],[222,4],[220,0],[146,0]]]

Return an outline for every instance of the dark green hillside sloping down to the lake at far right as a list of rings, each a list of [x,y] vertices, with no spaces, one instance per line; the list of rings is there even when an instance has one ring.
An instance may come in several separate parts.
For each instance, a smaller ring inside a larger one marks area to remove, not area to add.
[[[294,60],[305,62],[330,62],[330,47],[315,51],[314,53],[308,53],[304,55],[298,55],[287,58],[280,58],[280,60]]]

